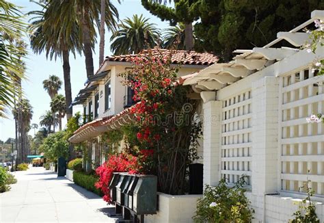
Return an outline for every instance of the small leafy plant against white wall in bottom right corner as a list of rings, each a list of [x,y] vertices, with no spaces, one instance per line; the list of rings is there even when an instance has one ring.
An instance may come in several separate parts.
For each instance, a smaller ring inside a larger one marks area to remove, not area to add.
[[[309,223],[319,223],[319,218],[315,213],[316,207],[314,202],[312,202],[311,198],[314,196],[314,190],[308,186],[308,183],[311,181],[307,181],[304,183],[302,187],[299,189],[303,189],[306,191],[306,198],[304,198],[301,202],[298,202],[298,209],[293,213],[295,219],[290,220],[291,223],[298,223],[298,222],[309,222]]]

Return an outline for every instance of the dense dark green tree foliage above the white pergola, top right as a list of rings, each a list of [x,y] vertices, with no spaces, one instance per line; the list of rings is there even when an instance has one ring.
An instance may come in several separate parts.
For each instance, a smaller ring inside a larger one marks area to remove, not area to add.
[[[263,47],[278,31],[297,27],[310,12],[323,8],[321,0],[198,0],[195,12],[200,20],[194,30],[201,41],[195,42],[195,50],[213,51],[228,61],[235,49]]]

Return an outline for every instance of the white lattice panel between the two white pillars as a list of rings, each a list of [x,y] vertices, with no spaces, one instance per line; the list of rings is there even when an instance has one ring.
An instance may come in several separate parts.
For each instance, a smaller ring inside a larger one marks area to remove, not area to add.
[[[252,176],[252,99],[251,90],[222,100],[221,111],[221,178],[229,183]]]

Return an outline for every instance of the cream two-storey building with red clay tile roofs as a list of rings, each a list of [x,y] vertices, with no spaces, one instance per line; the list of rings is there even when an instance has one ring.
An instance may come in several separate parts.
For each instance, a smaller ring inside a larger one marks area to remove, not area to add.
[[[165,49],[151,49],[152,53],[169,55],[171,51]],[[116,129],[129,120],[129,107],[134,104],[131,88],[122,84],[123,78],[120,74],[132,69],[131,59],[142,57],[148,51],[144,50],[135,55],[114,55],[105,58],[103,64],[96,72],[96,75],[87,80],[84,89],[80,90],[72,105],[83,105],[83,112],[86,115],[85,122],[75,134],[70,137],[70,142],[87,144],[88,156],[85,159],[85,169],[95,168],[105,161],[105,148],[98,143],[99,135]],[[180,66],[178,77],[185,77],[210,66],[218,61],[218,58],[211,53],[197,53],[195,51],[173,51],[172,65]],[[120,145],[122,147],[122,144]],[[91,165],[92,164],[92,165]]]

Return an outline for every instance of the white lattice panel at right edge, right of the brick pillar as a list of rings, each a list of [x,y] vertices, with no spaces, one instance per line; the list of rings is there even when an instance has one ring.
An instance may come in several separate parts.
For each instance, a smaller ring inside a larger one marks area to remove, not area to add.
[[[311,68],[280,77],[282,190],[298,192],[310,180],[315,194],[324,195],[323,123],[306,122],[324,112],[323,80]]]

